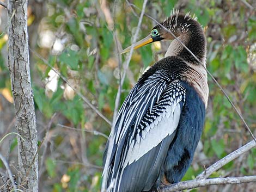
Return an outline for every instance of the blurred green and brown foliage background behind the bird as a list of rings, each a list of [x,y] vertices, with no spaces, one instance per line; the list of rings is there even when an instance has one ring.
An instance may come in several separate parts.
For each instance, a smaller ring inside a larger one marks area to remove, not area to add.
[[[117,53],[121,47],[131,44],[142,4],[141,0],[29,1],[31,75],[40,146],[39,191],[100,191],[105,135],[109,134],[111,126],[54,70],[112,121],[119,72],[123,71],[128,55]],[[256,134],[256,2],[159,0],[149,1],[145,13],[161,22],[173,8],[182,13],[190,11],[198,17],[208,41],[208,70],[228,92]],[[2,138],[16,129],[8,71],[7,13],[2,7],[0,16]],[[138,39],[148,35],[155,24],[144,16]],[[133,53],[120,103],[143,71],[163,57],[168,44],[157,42]],[[205,167],[252,139],[210,78],[209,88],[204,132],[184,180],[195,178]],[[11,164],[13,174],[18,175],[17,139],[8,137],[0,144],[0,150]],[[256,175],[255,159],[254,148],[211,177]],[[4,173],[0,162],[1,176]],[[5,181],[3,177],[0,186]],[[255,183],[217,185],[193,191],[255,191],[255,187]]]

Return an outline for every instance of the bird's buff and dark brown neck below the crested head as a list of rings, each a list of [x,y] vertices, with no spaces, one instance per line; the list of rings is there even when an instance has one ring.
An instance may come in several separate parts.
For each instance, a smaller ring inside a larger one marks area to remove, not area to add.
[[[208,103],[209,88],[207,83],[207,72],[205,70],[206,60],[206,43],[203,32],[186,33],[179,35],[178,39],[174,39],[170,44],[165,57],[176,56],[184,60],[188,65],[186,71],[182,75],[182,80],[185,80],[198,92],[202,98],[205,108]],[[187,46],[188,49],[196,55],[200,63],[191,55],[190,52],[180,43],[180,41]]]

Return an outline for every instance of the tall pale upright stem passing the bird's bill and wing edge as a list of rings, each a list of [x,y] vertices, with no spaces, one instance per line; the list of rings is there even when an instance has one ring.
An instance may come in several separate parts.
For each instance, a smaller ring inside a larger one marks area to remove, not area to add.
[[[119,83],[117,97],[115,98],[115,111],[116,112],[117,112],[117,109],[118,109],[118,106],[119,106],[119,102],[120,102],[121,89],[122,89],[122,86],[124,84],[126,70],[128,69],[130,61],[131,61],[134,44],[135,44],[135,42],[136,42],[136,40],[138,38],[138,33],[139,33],[139,29],[141,28],[142,18],[143,18],[144,12],[145,12],[145,8],[146,8],[146,5],[147,5],[147,2],[148,2],[148,0],[144,0],[144,2],[143,2],[143,7],[142,7],[141,15],[139,16],[138,26],[136,28],[136,32],[135,32],[135,35],[134,35],[133,40],[132,40],[131,51],[130,51],[128,59],[126,60],[126,64],[124,66],[124,72],[123,72],[123,75],[122,75],[120,83]],[[116,117],[116,115],[117,115],[117,113],[115,113],[114,116],[113,116],[113,122],[112,122],[112,127],[111,127],[111,133],[112,134],[109,135],[109,139],[108,139],[108,149],[107,149],[107,157],[106,157],[105,167],[109,165],[109,160],[110,160],[110,156],[111,156],[111,149],[112,149],[112,147],[114,145],[113,135],[114,135],[114,125],[115,125],[115,117]],[[102,185],[101,185],[101,192],[104,192],[106,190],[107,176],[108,176],[108,169],[106,169],[106,172],[103,174]]]

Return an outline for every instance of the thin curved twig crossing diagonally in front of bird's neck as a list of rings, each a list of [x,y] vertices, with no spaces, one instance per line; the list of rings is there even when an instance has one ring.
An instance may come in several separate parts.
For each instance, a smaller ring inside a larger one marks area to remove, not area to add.
[[[135,7],[137,9],[139,9],[136,5],[133,5],[132,3],[130,3],[131,7]],[[141,9],[139,9],[141,11]],[[194,53],[192,51],[190,51],[190,49],[183,43],[181,42],[180,39],[178,39],[169,29],[167,29],[166,27],[164,27],[160,22],[156,21],[155,18],[151,17],[148,14],[145,14],[145,16],[149,17],[151,20],[155,21],[157,24],[159,24],[162,28],[164,28],[165,30],[167,30],[168,33],[170,33],[177,41],[180,42],[180,44],[182,46],[184,46],[184,48],[187,49],[188,52],[190,52],[190,54],[198,61],[198,63],[200,63],[203,67],[203,63],[196,57],[196,55],[194,55]],[[214,76],[211,75],[211,73],[206,69],[206,67],[204,67],[204,69],[207,71],[207,73],[210,75],[210,77],[212,78],[212,80],[214,80],[214,82],[216,83],[216,85],[218,86],[218,88],[220,88],[220,90],[223,92],[224,96],[228,99],[229,103],[231,104],[231,106],[235,109],[235,112],[239,115],[240,119],[242,120],[242,122],[245,124],[245,127],[247,129],[247,131],[251,134],[253,140],[256,143],[256,138],[254,137],[251,129],[249,128],[249,126],[247,125],[245,119],[243,119],[243,116],[240,114],[239,110],[235,107],[235,104],[230,100],[228,94],[225,92],[225,90],[222,88],[222,86],[217,82],[217,80],[214,78]]]

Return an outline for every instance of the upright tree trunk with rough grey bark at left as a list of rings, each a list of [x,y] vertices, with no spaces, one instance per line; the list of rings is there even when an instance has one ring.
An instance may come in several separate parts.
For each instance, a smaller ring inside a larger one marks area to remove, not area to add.
[[[27,0],[8,1],[9,71],[18,138],[19,188],[38,191],[35,108],[29,70]]]

